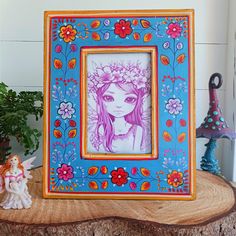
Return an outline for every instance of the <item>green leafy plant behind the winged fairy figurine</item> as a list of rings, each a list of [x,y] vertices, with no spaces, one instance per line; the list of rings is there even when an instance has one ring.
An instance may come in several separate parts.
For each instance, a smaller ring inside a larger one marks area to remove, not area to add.
[[[0,83],[0,164],[11,153],[12,136],[23,146],[25,155],[38,149],[41,132],[29,126],[29,115],[36,120],[43,115],[42,92],[24,91],[17,94],[6,84]]]

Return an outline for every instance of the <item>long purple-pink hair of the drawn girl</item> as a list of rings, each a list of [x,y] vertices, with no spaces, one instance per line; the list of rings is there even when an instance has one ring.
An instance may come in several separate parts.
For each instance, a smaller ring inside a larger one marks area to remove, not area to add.
[[[99,105],[97,135],[99,137],[98,130],[100,127],[103,127],[105,136],[105,143],[103,145],[105,146],[106,151],[113,152],[112,140],[115,134],[112,122],[114,121],[114,117],[106,111],[103,104],[103,94],[109,88],[110,84],[111,83],[107,83],[97,90],[97,102]],[[115,85],[124,91],[131,92],[137,95],[135,108],[131,113],[125,116],[125,120],[132,125],[139,125],[144,129],[145,127],[143,126],[142,122],[142,98],[144,96],[143,90],[135,88],[131,83],[124,84],[117,82],[115,83]]]

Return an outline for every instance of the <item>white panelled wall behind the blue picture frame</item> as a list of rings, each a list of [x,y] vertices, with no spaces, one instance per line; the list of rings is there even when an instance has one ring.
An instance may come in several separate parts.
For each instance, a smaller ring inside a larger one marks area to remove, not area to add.
[[[195,9],[196,125],[208,111],[208,80],[222,73],[226,80],[228,8],[230,0],[1,0],[0,2],[0,80],[17,91],[43,89],[43,12],[84,9]],[[225,83],[218,93],[225,95]],[[42,124],[37,124],[42,129]],[[197,139],[197,167],[207,140]],[[222,144],[218,157],[222,162]],[[15,151],[23,153],[18,145]],[[42,148],[37,151],[41,164]]]

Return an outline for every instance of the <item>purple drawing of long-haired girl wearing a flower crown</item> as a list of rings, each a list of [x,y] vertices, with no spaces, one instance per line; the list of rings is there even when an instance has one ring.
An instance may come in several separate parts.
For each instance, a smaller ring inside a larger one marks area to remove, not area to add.
[[[97,114],[89,110],[89,127],[96,123],[89,129],[92,146],[106,153],[150,153],[150,69],[116,62],[96,66],[88,79]]]

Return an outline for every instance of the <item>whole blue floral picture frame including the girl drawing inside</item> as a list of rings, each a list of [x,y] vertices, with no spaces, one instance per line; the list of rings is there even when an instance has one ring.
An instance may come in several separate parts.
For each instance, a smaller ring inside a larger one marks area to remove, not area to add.
[[[194,12],[45,12],[44,197],[195,198]]]

